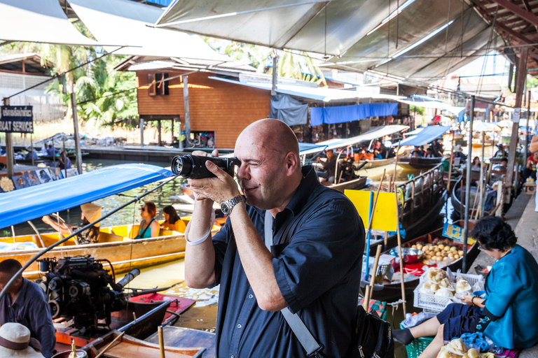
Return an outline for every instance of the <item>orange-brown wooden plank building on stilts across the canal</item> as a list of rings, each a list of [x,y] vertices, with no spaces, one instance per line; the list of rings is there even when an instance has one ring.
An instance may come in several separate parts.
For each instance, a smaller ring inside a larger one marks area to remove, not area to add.
[[[184,66],[172,59],[146,62],[147,59],[130,57],[116,66],[118,71],[137,73],[138,113],[144,122],[158,121],[160,127],[161,121],[172,120],[181,122],[181,131],[185,130],[186,73],[191,138],[198,146],[234,148],[237,136],[245,127],[269,115],[270,92],[210,78],[216,75],[237,78],[240,71],[252,71],[249,66],[205,69]],[[174,133],[179,134],[179,129],[174,129]]]

